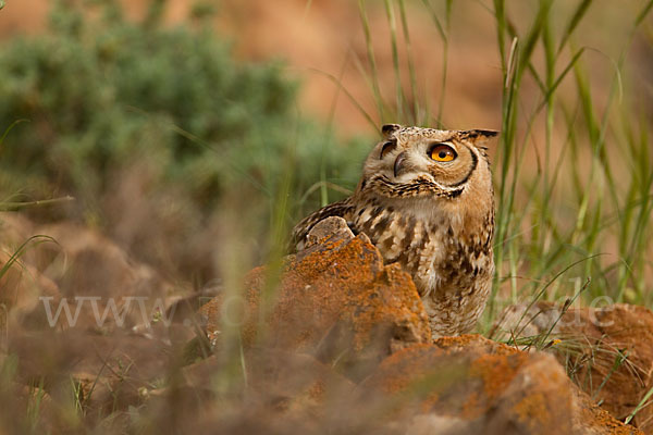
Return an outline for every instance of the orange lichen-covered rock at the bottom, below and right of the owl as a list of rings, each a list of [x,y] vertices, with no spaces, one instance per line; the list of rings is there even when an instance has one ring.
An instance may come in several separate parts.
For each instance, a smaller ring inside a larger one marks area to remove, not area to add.
[[[407,433],[639,433],[589,405],[552,356],[480,336],[406,348],[362,386],[371,396],[404,398],[395,413],[415,415]]]

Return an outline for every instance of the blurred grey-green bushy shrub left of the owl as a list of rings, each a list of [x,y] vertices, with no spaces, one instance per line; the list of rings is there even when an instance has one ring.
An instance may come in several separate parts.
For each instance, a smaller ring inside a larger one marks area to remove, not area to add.
[[[344,160],[328,130],[297,114],[298,86],[279,62],[235,62],[201,21],[163,26],[156,13],[162,2],[140,23],[123,18],[113,2],[95,3],[89,11],[60,2],[46,35],[0,48],[0,126],[30,121],[11,132],[0,154],[0,183],[11,191],[73,195],[67,215],[111,228],[119,219],[108,217],[116,206],[107,197],[116,177],[146,164],[137,198],[164,194],[190,210],[173,231],[184,240],[225,192],[264,201],[267,224],[288,172],[294,198],[319,179],[355,183],[361,159],[348,152]],[[306,207],[317,206],[311,198]],[[147,201],[139,207],[162,213]]]

